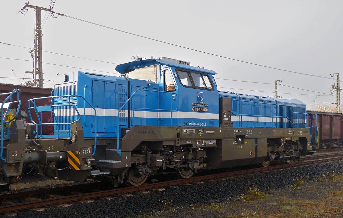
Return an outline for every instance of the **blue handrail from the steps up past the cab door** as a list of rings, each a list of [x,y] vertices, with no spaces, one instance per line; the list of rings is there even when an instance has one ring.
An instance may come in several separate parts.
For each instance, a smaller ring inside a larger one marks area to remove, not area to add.
[[[138,91],[149,91],[149,92],[160,92],[160,93],[169,93],[169,94],[175,94],[175,100],[176,100],[176,96],[177,96],[177,93],[172,93],[172,92],[165,92],[165,91],[158,91],[158,90],[146,90],[146,89],[137,89],[136,91],[134,91],[132,93],[132,95],[129,97],[129,99],[120,107],[120,109],[118,110],[118,122],[117,122],[117,153],[119,154],[119,156],[121,156],[121,152],[119,151],[119,112],[123,109],[123,107],[132,99],[132,97],[138,92]],[[167,109],[158,109],[158,108],[135,108],[134,107],[134,103],[133,103],[133,117],[134,117],[134,110],[137,109],[137,110],[149,110],[149,111],[170,111],[170,126],[173,126],[173,111],[177,111],[177,108],[178,108],[178,101],[176,100],[176,109],[173,110],[173,104],[172,104],[172,100],[174,99],[173,98],[174,96],[173,95],[170,95],[170,110],[167,110]],[[130,108],[128,108],[128,113],[130,113]]]

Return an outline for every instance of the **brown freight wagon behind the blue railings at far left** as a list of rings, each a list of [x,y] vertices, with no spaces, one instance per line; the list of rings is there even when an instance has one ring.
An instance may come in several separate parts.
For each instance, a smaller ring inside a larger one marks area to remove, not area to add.
[[[17,120],[22,120],[26,121],[28,123],[32,123],[31,119],[28,115],[28,100],[33,99],[36,97],[46,97],[51,95],[52,89],[50,88],[38,88],[38,87],[28,87],[25,85],[13,85],[13,84],[4,84],[0,83],[0,93],[7,93],[7,92],[12,92],[14,89],[19,89],[20,90],[20,100],[21,100],[21,106],[20,106],[20,111],[17,116]],[[16,100],[16,95],[13,96],[14,100]],[[0,96],[0,102],[5,100],[4,96]],[[50,105],[51,99],[44,99],[39,101],[40,105],[37,106],[45,106],[45,105]],[[16,113],[16,108],[17,105],[12,105],[13,108],[11,108],[10,113],[15,114]],[[1,108],[1,104],[0,104]],[[35,122],[38,121],[37,116],[34,112],[34,110],[31,111],[31,115],[34,119]],[[43,113],[43,123],[51,123],[50,121],[50,114],[47,112]],[[54,131],[52,125],[43,125],[43,133],[44,134],[51,134]]]

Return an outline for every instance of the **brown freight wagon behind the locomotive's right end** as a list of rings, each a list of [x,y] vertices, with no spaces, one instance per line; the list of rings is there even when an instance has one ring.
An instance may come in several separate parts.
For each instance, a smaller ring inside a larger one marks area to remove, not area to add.
[[[312,135],[312,147],[332,148],[342,146],[343,116],[341,113],[307,111],[308,114],[317,114],[317,130],[319,131],[319,140],[314,141],[315,135]],[[314,125],[312,121],[312,126]],[[313,131],[312,131],[313,132]]]

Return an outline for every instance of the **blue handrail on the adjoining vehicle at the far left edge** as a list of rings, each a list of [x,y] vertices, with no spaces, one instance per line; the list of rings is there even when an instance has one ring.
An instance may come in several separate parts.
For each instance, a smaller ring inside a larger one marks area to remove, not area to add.
[[[17,93],[17,100],[16,101],[12,101],[12,95],[14,93]],[[7,158],[3,158],[3,140],[4,140],[4,124],[7,123],[7,138],[10,137],[10,123],[18,116],[18,113],[19,113],[19,108],[20,108],[20,105],[21,105],[21,101],[19,99],[19,95],[20,95],[20,90],[19,89],[14,89],[12,92],[8,92],[8,93],[2,93],[0,95],[7,95],[7,98],[2,102],[1,104],[1,114],[0,114],[0,124],[1,124],[1,150],[0,150],[0,158],[1,160],[5,161],[7,160]],[[7,103],[7,101],[9,100],[9,105],[7,107],[7,110],[5,112],[5,114],[3,114],[3,105],[5,103]],[[9,121],[4,121],[4,119],[6,119],[7,117],[7,114],[8,114],[8,109],[10,108],[11,104],[13,103],[18,103],[18,107],[17,107],[17,110],[16,110],[16,113],[15,113],[15,116],[12,117],[12,119],[10,119]]]

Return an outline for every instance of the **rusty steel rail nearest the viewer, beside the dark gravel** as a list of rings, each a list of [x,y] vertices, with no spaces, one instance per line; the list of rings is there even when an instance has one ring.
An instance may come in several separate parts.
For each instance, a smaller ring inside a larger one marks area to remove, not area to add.
[[[17,210],[35,209],[38,207],[44,207],[44,206],[55,205],[55,204],[60,205],[60,204],[74,202],[78,200],[85,201],[86,199],[107,197],[111,195],[125,194],[125,193],[130,193],[130,192],[140,192],[143,190],[156,189],[156,188],[185,184],[185,183],[190,183],[190,182],[200,182],[203,180],[218,179],[222,177],[243,175],[243,174],[249,174],[249,173],[269,171],[269,170],[274,170],[274,169],[290,168],[290,167],[297,167],[297,166],[303,166],[303,165],[309,165],[309,164],[315,164],[315,163],[324,163],[324,162],[337,161],[337,160],[343,160],[343,156],[309,160],[305,162],[294,162],[294,163],[289,163],[289,164],[274,165],[274,166],[269,166],[269,167],[262,167],[262,168],[248,169],[248,170],[218,173],[218,174],[212,174],[212,175],[196,176],[196,177],[191,177],[189,179],[178,179],[178,180],[172,180],[172,181],[167,181],[167,182],[145,184],[141,186],[130,186],[130,187],[118,188],[114,190],[99,191],[99,192],[78,194],[78,195],[72,195],[72,196],[48,198],[44,200],[36,200],[32,202],[24,202],[24,203],[19,203],[19,204],[1,206],[0,213],[7,214],[9,212],[13,212]]]

